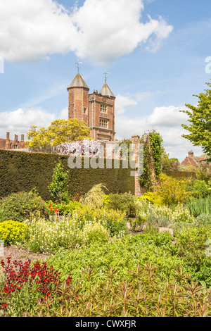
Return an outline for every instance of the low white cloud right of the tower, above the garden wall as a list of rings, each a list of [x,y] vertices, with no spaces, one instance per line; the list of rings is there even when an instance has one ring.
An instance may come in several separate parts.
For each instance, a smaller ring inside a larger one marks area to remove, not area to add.
[[[132,101],[131,101],[132,103]],[[203,154],[198,146],[193,146],[187,139],[181,137],[187,133],[181,124],[187,123],[187,116],[179,110],[185,107],[157,107],[148,116],[143,118],[131,118],[127,115],[127,107],[124,113],[117,113],[115,116],[116,139],[127,139],[132,135],[143,135],[144,132],[156,130],[163,139],[163,146],[170,157],[179,158],[182,161],[193,149],[196,155]]]

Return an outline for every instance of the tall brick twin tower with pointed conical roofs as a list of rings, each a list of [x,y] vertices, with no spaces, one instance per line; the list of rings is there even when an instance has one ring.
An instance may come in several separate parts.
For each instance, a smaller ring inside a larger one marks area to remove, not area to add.
[[[107,83],[100,92],[89,94],[89,87],[77,73],[68,87],[68,118],[84,120],[94,140],[115,140],[115,96]]]

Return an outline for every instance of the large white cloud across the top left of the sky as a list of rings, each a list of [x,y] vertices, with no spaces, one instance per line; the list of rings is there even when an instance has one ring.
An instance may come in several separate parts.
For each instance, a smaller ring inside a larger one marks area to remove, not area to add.
[[[25,61],[74,51],[107,64],[153,36],[151,46],[158,48],[172,26],[162,18],[141,23],[143,9],[143,0],[86,0],[71,12],[52,0],[1,1],[0,56]]]

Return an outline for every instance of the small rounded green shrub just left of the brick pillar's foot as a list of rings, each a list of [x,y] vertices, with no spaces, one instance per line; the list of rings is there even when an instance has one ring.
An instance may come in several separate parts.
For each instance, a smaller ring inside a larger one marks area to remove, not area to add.
[[[109,201],[106,207],[122,212],[125,211],[128,218],[136,216],[135,197],[130,193],[109,194]]]

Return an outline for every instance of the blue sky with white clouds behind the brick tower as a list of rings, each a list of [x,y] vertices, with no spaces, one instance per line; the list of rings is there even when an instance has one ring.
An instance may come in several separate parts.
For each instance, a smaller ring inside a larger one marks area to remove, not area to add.
[[[210,0],[0,0],[0,137],[68,118],[79,60],[90,92],[110,73],[117,139],[154,129],[170,157],[200,155],[180,110],[210,82],[210,37]]]

